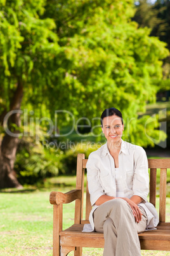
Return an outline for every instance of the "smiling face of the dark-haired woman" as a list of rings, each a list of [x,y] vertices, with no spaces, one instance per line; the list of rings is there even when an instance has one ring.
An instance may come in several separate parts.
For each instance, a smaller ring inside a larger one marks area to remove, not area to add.
[[[111,117],[103,118],[103,127],[101,129],[108,142],[117,143],[121,141],[124,125],[122,124],[121,117],[112,115]]]

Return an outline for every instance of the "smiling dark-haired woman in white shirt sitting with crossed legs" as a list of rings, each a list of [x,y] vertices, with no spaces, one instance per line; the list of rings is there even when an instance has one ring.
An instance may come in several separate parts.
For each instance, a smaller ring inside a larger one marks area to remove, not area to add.
[[[84,231],[103,232],[105,256],[138,256],[138,233],[154,229],[159,222],[157,211],[147,202],[147,155],[140,146],[121,139],[121,111],[103,111],[101,129],[107,143],[89,155],[86,166],[93,209],[89,216],[91,230],[84,225]]]

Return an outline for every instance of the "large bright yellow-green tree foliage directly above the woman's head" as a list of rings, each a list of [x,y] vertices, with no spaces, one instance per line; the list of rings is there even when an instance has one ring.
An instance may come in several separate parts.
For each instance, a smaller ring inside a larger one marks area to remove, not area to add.
[[[162,78],[160,59],[168,54],[166,44],[149,37],[149,29],[138,29],[130,22],[132,1],[96,1],[92,6],[89,1],[60,1],[57,7],[55,1],[49,1],[44,15],[53,10],[50,13],[58,43],[65,48],[64,83],[69,96],[59,94],[63,105],[70,99],[72,113],[88,118],[100,117],[101,111],[114,105],[126,120],[137,119],[139,111],[145,112],[147,101],[155,101],[157,87],[153,81]],[[136,129],[140,123],[137,119]],[[150,128],[156,136],[155,127],[153,123]],[[135,137],[138,143],[134,130],[131,125],[129,140]],[[141,137],[143,145],[150,145],[144,128]]]

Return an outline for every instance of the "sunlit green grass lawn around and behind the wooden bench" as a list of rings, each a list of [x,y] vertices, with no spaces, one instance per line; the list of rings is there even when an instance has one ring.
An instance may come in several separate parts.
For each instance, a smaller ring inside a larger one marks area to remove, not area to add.
[[[0,255],[52,255],[53,206],[49,192],[67,192],[75,177],[59,177],[50,181],[55,188],[41,190],[1,190]],[[46,184],[51,185],[48,181]],[[46,186],[48,186],[46,185]],[[158,207],[158,204],[157,204]],[[167,221],[170,222],[170,198],[167,197]],[[63,229],[74,222],[74,203],[63,207]],[[142,255],[169,255],[170,252],[142,251]],[[74,255],[70,252],[69,255]],[[103,255],[103,248],[84,248],[83,255]]]

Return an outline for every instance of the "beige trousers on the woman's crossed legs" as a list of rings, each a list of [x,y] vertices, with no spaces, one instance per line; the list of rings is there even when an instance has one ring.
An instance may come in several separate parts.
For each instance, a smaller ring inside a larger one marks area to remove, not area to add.
[[[104,256],[140,256],[138,233],[145,231],[147,215],[140,208],[142,219],[135,222],[133,212],[124,199],[114,199],[101,204],[93,213],[95,231],[103,232]]]

